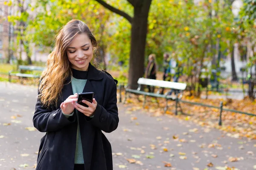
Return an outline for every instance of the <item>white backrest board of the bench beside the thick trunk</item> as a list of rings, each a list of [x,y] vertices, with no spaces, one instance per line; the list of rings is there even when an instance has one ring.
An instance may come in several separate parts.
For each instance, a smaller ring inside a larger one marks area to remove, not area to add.
[[[140,85],[152,85],[152,86],[157,86],[161,88],[172,88],[177,90],[186,89],[186,84],[180,83],[180,82],[167,82],[163,80],[139,78],[137,83]]]

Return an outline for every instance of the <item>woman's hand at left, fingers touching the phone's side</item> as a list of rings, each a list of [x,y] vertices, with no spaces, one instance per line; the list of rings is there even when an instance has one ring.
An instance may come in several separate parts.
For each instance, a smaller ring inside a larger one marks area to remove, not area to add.
[[[77,93],[70,95],[64,102],[61,103],[61,111],[64,114],[71,114],[74,111],[77,101]]]

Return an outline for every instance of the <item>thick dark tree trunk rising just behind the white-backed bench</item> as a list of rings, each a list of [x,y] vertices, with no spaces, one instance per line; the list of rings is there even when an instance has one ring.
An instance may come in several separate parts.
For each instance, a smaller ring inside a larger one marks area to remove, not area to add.
[[[131,23],[131,51],[129,60],[128,84],[137,88],[137,81],[144,74],[145,44],[148,28],[148,11],[151,0],[144,0],[134,6]]]

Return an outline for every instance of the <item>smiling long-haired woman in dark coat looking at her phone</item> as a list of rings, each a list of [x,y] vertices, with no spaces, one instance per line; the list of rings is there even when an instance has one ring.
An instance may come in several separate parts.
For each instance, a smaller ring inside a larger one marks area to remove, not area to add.
[[[71,20],[58,33],[38,88],[34,126],[41,139],[36,170],[112,170],[111,144],[102,133],[118,126],[116,83],[90,61],[96,40],[87,25]],[[94,92],[93,102],[77,103]]]

